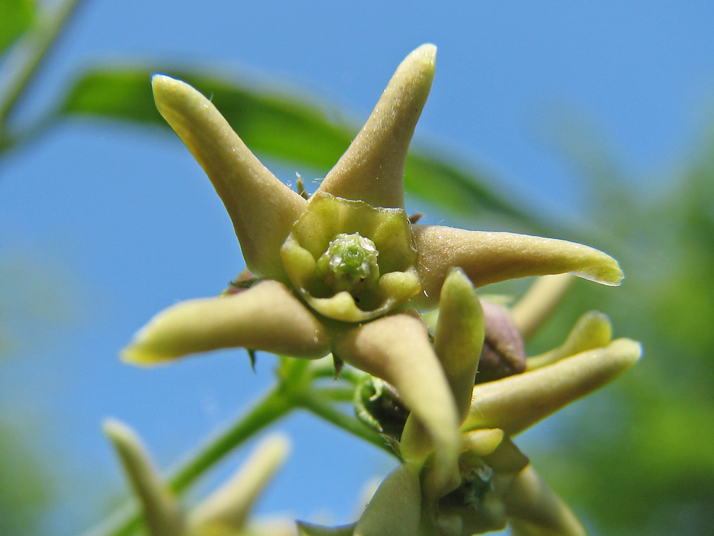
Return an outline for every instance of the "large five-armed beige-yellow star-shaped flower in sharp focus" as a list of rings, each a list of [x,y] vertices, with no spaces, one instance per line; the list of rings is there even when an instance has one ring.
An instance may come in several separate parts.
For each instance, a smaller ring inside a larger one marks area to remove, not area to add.
[[[316,359],[333,352],[393,384],[445,465],[460,448],[458,409],[418,311],[433,309],[453,267],[476,287],[572,272],[616,285],[607,254],[521,234],[410,224],[408,145],[433,79],[436,47],[398,67],[365,126],[306,200],[253,156],[209,99],[156,75],[156,106],[213,182],[248,269],[244,292],[169,307],[136,334],[126,361],[246,347]]]

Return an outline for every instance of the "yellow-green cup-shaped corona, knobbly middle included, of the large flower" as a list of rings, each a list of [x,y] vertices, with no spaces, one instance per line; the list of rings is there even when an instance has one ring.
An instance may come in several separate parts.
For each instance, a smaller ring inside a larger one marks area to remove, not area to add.
[[[364,322],[419,292],[412,242],[402,209],[318,192],[293,226],[281,257],[293,287],[316,312]]]

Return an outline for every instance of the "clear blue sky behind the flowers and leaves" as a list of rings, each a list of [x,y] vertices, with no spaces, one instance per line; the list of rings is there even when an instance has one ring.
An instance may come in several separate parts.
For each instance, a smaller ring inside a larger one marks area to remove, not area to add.
[[[580,183],[547,140],[559,114],[597,126],[638,188],[660,186],[711,118],[713,27],[706,1],[90,0],[19,117],[51,105],[86,66],[150,62],[326,99],[360,122],[401,59],[430,41],[436,79],[416,139],[488,170],[518,202],[577,221]],[[242,269],[221,202],[178,139],[74,121],[4,159],[0,176],[0,267],[26,266],[17,288],[46,289],[66,316],[17,327],[0,408],[36,452],[64,460],[54,473],[71,477],[63,491],[74,498],[52,523],[71,535],[101,505],[86,497],[123,485],[104,417],[136,427],[169,467],[266,388],[273,360],[260,356],[253,375],[241,352],[154,370],[116,359],[155,312],[216,294]],[[348,522],[363,482],[390,467],[311,417],[278,427],[293,455],[261,512]]]

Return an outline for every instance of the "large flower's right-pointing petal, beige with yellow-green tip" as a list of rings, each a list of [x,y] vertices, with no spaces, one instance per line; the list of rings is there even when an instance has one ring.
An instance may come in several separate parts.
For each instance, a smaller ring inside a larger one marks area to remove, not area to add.
[[[618,285],[623,279],[615,259],[574,242],[438,225],[413,225],[412,229],[422,288],[413,300],[420,309],[436,307],[448,269],[455,266],[466,272],[474,287],[565,272],[607,285]]]

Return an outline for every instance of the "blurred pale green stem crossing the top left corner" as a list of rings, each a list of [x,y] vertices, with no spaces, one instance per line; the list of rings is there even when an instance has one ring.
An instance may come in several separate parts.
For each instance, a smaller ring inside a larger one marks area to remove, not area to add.
[[[14,72],[0,101],[0,135],[4,131],[7,116],[32,81],[80,2],[81,0],[65,0],[63,4],[54,9],[52,14],[46,15],[44,20],[39,21],[35,28],[29,32],[29,53],[25,61]]]

